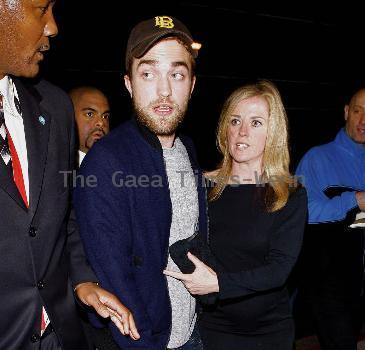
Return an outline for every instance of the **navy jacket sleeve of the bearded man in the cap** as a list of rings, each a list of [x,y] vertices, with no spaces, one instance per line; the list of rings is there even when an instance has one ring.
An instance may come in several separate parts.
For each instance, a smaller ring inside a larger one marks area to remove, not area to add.
[[[131,213],[125,187],[113,183],[122,174],[119,164],[101,145],[88,152],[74,191],[76,217],[89,262],[101,286],[114,293],[133,313],[141,339],[123,336],[110,322],[114,339],[122,349],[157,350],[152,326],[134,279]]]

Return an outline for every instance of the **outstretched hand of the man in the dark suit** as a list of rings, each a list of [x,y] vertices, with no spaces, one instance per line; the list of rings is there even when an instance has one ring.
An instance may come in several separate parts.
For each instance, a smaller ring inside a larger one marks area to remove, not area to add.
[[[133,340],[140,338],[132,313],[114,294],[92,282],[78,284],[75,292],[81,302],[93,307],[101,317],[110,317],[123,335]]]

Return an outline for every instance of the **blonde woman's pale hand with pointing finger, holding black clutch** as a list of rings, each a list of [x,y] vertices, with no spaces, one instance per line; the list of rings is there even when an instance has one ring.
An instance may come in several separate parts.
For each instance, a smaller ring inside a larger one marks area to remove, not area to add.
[[[193,273],[184,274],[169,270],[164,270],[163,273],[182,281],[186,289],[193,295],[219,292],[217,274],[190,252],[188,258],[195,265]]]

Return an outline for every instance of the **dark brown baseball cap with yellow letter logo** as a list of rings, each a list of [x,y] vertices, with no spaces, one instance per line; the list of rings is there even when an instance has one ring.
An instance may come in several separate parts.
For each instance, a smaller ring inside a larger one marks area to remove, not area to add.
[[[181,21],[171,16],[156,16],[139,22],[132,29],[127,43],[126,69],[128,70],[132,57],[142,57],[154,44],[167,36],[179,38],[194,58],[198,56],[198,50],[192,47],[194,40],[191,33]]]

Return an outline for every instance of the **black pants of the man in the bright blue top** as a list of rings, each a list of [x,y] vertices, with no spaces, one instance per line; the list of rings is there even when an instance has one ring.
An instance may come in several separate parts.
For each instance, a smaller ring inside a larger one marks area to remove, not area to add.
[[[356,350],[359,336],[364,231],[348,227],[350,214],[343,222],[308,225],[298,260],[299,293],[313,316],[321,350]]]

